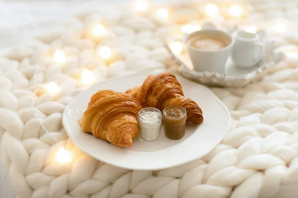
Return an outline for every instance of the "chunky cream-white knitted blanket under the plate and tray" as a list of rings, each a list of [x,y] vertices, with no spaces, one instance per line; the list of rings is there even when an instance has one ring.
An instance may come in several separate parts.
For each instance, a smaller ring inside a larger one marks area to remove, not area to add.
[[[273,3],[276,9],[296,9],[295,3]],[[264,6],[250,5],[250,16],[260,17],[268,8]],[[172,20],[192,20],[198,7],[174,5]],[[89,34],[88,27],[97,22],[108,27],[105,38]],[[175,71],[162,40],[177,28],[154,17],[98,8],[61,23],[64,28],[0,58],[0,151],[18,198],[297,198],[298,58],[285,60],[243,89],[211,88],[228,107],[231,126],[222,143],[203,158],[160,171],[125,170],[76,148],[63,128],[63,109],[86,88],[80,82],[83,68],[94,73],[96,82],[139,71]],[[290,45],[298,43],[297,37],[277,38],[279,50],[298,50]],[[103,45],[113,51],[109,63],[98,56]],[[52,58],[57,48],[67,55],[63,66]],[[41,72],[34,85],[37,68]],[[36,112],[72,153],[68,164],[55,162],[59,145],[32,109],[33,92],[51,81],[60,92],[40,93]]]

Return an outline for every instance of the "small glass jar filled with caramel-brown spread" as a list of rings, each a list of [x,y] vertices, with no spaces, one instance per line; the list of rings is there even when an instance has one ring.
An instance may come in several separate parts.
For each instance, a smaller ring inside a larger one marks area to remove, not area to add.
[[[185,135],[186,110],[182,106],[172,105],[163,109],[162,120],[164,135],[171,140],[178,140]]]

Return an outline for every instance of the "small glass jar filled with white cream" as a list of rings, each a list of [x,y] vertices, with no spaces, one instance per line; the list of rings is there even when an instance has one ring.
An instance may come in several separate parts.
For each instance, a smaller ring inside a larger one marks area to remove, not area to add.
[[[146,142],[156,141],[160,137],[161,122],[162,114],[157,108],[141,109],[138,114],[141,139]]]

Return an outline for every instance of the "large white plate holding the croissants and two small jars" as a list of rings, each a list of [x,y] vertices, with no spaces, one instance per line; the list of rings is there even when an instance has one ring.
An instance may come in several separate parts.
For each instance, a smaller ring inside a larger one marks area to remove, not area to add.
[[[164,169],[200,158],[215,148],[228,131],[230,115],[223,104],[207,87],[178,76],[185,96],[202,108],[204,122],[187,123],[181,140],[161,137],[156,142],[143,142],[139,137],[130,148],[121,148],[84,133],[77,121],[87,108],[90,97],[98,90],[112,89],[124,92],[142,85],[149,74],[135,74],[98,83],[78,94],[63,112],[63,125],[74,144],[92,157],[118,167],[133,170]]]

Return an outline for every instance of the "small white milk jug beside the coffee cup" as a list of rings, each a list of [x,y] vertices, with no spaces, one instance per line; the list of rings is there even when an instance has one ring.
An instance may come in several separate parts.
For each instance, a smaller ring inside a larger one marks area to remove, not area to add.
[[[254,67],[262,58],[263,44],[259,42],[259,35],[238,31],[231,58],[237,67]]]

